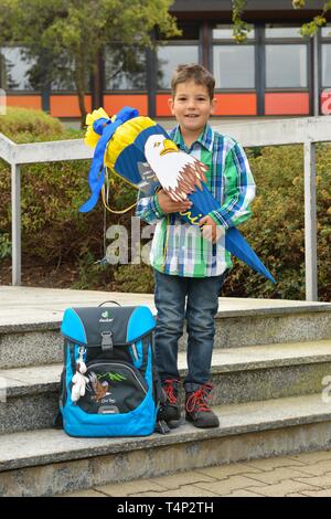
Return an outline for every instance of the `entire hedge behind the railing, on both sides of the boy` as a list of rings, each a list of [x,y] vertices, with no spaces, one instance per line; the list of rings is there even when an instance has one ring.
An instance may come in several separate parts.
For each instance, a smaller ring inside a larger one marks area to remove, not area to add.
[[[7,120],[6,120],[7,119]],[[34,110],[10,110],[0,117],[0,131],[15,141],[82,137],[57,120]],[[18,140],[19,139],[19,140]],[[274,286],[241,262],[224,286],[224,296],[305,299],[303,149],[282,146],[247,149],[257,183],[253,218],[239,229],[277,279]],[[88,198],[89,161],[32,165],[22,168],[22,252],[24,265],[77,271],[76,288],[152,292],[146,265],[102,267],[104,210],[88,214],[78,206]],[[331,146],[317,146],[319,298],[331,299]],[[114,178],[109,204],[121,209],[136,191]],[[130,216],[107,214],[106,226],[130,227]],[[128,231],[130,234],[130,231]],[[0,260],[10,255],[10,169],[0,162]]]

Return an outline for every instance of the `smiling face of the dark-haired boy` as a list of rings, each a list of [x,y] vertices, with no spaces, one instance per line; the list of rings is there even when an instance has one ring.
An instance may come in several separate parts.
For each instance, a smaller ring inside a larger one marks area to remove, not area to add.
[[[215,104],[216,99],[211,100],[206,86],[197,85],[194,81],[179,83],[174,97],[169,99],[171,113],[181,130],[196,136],[214,113]]]

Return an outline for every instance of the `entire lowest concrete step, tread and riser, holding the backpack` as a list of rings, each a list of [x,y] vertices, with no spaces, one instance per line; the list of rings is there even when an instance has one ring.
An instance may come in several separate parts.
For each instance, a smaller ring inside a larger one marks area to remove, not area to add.
[[[321,394],[215,407],[221,426],[168,435],[72,438],[42,430],[1,436],[0,495],[53,496],[107,483],[331,447]]]

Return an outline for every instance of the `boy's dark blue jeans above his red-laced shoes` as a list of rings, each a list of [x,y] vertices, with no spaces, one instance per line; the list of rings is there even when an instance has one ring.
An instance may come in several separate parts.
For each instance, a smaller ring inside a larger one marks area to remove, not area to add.
[[[213,277],[181,277],[154,269],[154,300],[158,310],[156,361],[161,382],[180,379],[178,341],[188,330],[186,392],[209,381],[215,336],[215,315],[226,273]]]

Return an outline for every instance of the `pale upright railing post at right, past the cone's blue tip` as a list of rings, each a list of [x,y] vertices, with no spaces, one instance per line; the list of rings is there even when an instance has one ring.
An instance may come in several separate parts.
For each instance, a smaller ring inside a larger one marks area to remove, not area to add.
[[[305,156],[305,261],[306,300],[318,300],[316,144],[303,144]]]

